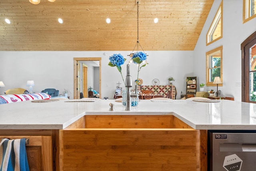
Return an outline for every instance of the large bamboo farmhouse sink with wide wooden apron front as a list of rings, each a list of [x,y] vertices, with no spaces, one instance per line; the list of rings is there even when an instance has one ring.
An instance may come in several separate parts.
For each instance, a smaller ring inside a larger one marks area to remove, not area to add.
[[[86,115],[60,130],[60,170],[206,170],[200,136],[173,115]]]

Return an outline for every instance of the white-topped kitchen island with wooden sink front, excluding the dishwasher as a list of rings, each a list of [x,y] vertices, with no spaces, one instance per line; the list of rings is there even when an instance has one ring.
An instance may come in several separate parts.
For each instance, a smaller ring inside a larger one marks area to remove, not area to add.
[[[204,171],[207,130],[256,129],[252,103],[141,100],[125,111],[115,100],[65,101],[0,105],[2,137],[50,137],[43,170]]]

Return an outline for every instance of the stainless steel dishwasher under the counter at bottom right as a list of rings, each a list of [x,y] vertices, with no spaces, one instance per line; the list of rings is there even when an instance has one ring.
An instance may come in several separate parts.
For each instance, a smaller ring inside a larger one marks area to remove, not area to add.
[[[256,132],[208,132],[208,170],[256,171]]]

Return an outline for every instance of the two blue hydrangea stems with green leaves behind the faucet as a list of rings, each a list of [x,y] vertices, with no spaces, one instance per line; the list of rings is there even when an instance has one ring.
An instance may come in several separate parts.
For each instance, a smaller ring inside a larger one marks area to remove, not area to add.
[[[146,62],[145,64],[143,64],[142,66],[140,66],[140,64],[144,61],[146,61],[147,56],[144,52],[136,52],[134,54],[130,54],[130,57],[132,58],[132,61],[135,64],[138,64],[138,74],[137,74],[137,79],[136,79],[136,84],[138,84],[138,80],[139,80],[139,72],[141,70],[142,67],[146,66],[148,63]],[[109,66],[114,67],[116,66],[116,68],[118,69],[118,71],[120,72],[123,82],[124,82],[124,78],[122,75],[122,68],[121,65],[124,64],[124,62],[126,61],[126,59],[121,55],[121,54],[113,54],[112,56],[109,57],[110,62],[108,63]],[[125,82],[124,82],[125,85]]]

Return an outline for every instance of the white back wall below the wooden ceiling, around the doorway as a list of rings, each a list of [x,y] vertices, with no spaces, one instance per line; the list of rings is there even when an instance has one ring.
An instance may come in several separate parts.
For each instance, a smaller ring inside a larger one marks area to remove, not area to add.
[[[0,95],[10,88],[26,87],[27,80],[34,80],[34,92],[40,92],[45,88],[56,88],[60,92],[69,89],[73,98],[74,64],[73,58],[102,58],[102,97],[113,99],[118,82],[123,83],[117,68],[108,66],[109,56],[121,53],[124,58],[130,52],[6,52],[0,51],[0,81],[6,87],[0,88]],[[158,78],[161,85],[168,85],[167,78],[172,76],[173,83],[178,91],[185,92],[187,76],[193,76],[193,52],[192,51],[146,51],[148,54],[148,65],[141,69],[139,78],[144,81],[143,85],[152,85],[152,80]],[[122,66],[122,74],[126,76],[126,64]],[[132,80],[137,78],[137,66],[131,67]],[[135,82],[133,82],[135,84]],[[124,87],[121,84],[120,87]]]

